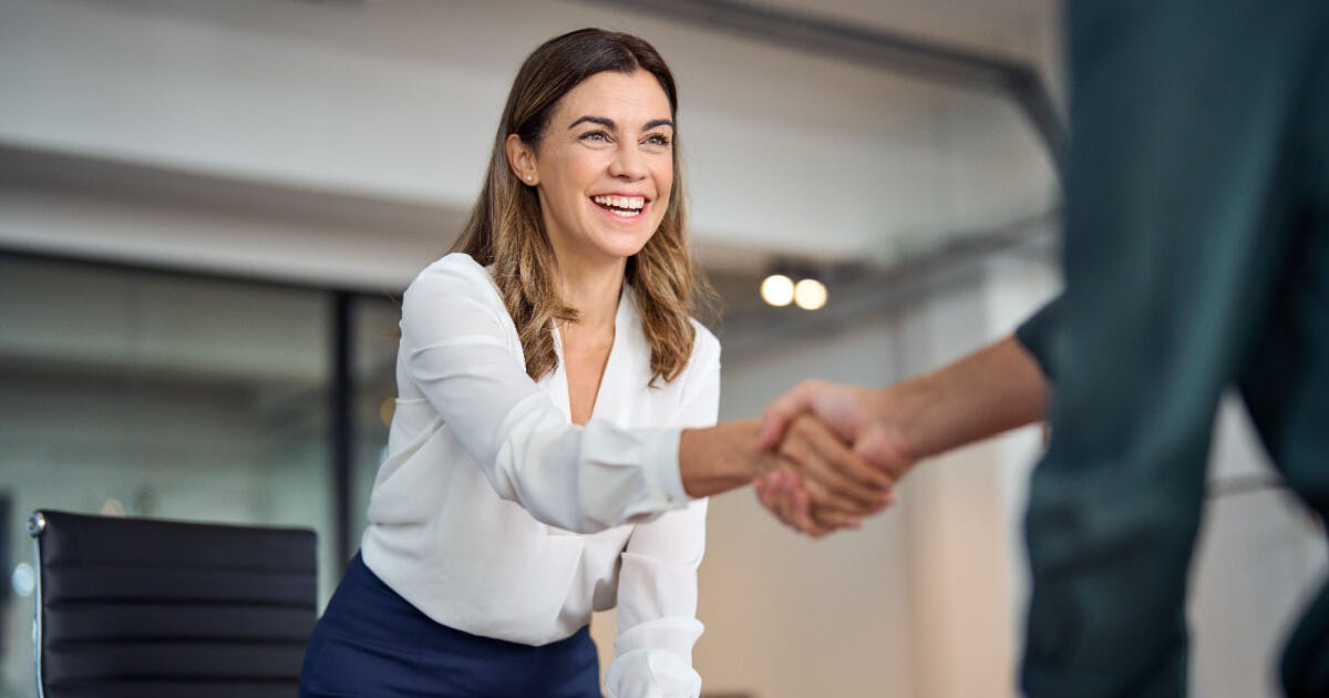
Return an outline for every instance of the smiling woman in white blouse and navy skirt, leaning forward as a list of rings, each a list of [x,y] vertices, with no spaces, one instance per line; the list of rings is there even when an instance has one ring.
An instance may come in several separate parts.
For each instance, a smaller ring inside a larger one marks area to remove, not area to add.
[[[587,624],[615,605],[609,694],[699,694],[688,495],[752,472],[684,491],[680,463],[755,457],[756,425],[680,439],[715,421],[720,350],[688,316],[675,110],[634,36],[522,64],[460,251],[405,292],[389,456],[302,695],[598,697]]]

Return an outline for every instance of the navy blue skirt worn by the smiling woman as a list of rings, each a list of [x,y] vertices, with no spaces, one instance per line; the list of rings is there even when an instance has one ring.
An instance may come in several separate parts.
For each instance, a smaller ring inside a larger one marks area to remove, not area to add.
[[[599,698],[599,659],[589,628],[533,647],[440,625],[356,554],[314,626],[300,695]]]

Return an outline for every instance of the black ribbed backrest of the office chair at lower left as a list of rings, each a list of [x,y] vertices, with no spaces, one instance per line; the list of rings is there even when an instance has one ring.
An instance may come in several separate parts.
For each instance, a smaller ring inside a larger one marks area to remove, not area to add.
[[[39,511],[28,532],[44,698],[296,694],[312,530]]]

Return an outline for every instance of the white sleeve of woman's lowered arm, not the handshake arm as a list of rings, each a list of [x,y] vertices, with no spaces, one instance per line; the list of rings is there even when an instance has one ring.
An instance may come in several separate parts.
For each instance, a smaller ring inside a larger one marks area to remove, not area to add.
[[[682,427],[715,424],[720,396],[719,343],[700,342],[694,382],[684,398]],[[618,658],[605,683],[610,698],[696,698],[702,677],[692,669],[696,569],[706,549],[707,500],[638,524],[622,553],[618,581]]]

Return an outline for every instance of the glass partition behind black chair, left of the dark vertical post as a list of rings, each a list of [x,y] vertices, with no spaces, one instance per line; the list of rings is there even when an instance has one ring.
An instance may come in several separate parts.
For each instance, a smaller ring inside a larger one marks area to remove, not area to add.
[[[0,255],[0,697],[36,694],[37,508],[308,526],[326,604],[331,299]]]

